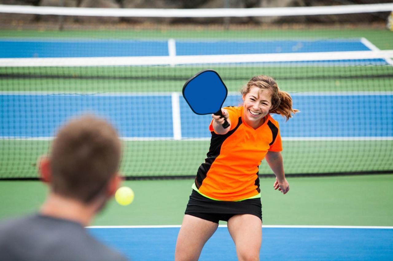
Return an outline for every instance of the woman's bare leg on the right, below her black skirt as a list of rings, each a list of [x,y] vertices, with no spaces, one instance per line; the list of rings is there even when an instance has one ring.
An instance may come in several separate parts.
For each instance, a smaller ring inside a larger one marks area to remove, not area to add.
[[[262,221],[251,214],[235,215],[228,220],[228,231],[235,242],[239,261],[259,260]]]

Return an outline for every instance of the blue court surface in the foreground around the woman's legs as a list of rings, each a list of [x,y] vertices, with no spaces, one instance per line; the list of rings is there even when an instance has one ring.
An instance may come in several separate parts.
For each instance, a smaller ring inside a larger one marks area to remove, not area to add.
[[[131,260],[174,260],[179,227],[90,228],[97,239]],[[390,228],[264,227],[261,260],[393,260]],[[228,229],[219,227],[204,246],[200,261],[235,261]]]

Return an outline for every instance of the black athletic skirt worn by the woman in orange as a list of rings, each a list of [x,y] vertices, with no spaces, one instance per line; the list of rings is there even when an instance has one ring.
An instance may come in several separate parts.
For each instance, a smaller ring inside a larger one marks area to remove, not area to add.
[[[215,223],[219,223],[220,220],[228,221],[228,219],[237,214],[251,214],[262,220],[261,198],[242,201],[221,201],[206,198],[193,190],[184,214]]]

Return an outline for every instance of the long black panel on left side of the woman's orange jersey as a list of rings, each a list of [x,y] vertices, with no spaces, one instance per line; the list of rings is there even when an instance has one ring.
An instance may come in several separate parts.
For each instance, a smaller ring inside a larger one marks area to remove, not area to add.
[[[214,131],[211,132],[211,140],[210,140],[210,149],[208,154],[208,158],[205,159],[205,163],[202,163],[198,169],[195,178],[195,185],[199,188],[202,185],[202,181],[206,178],[206,174],[208,173],[211,164],[215,161],[215,159],[220,155],[221,145],[224,141],[233,134],[242,124],[242,119],[239,117],[239,122],[237,123],[235,129],[230,130],[227,134],[220,135],[215,134]]]

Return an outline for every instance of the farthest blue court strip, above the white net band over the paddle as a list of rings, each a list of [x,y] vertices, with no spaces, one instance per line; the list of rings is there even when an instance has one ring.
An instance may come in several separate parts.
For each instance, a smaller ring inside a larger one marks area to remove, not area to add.
[[[362,39],[344,40],[176,40],[173,55],[368,51]],[[0,39],[0,58],[167,56],[165,40]]]

